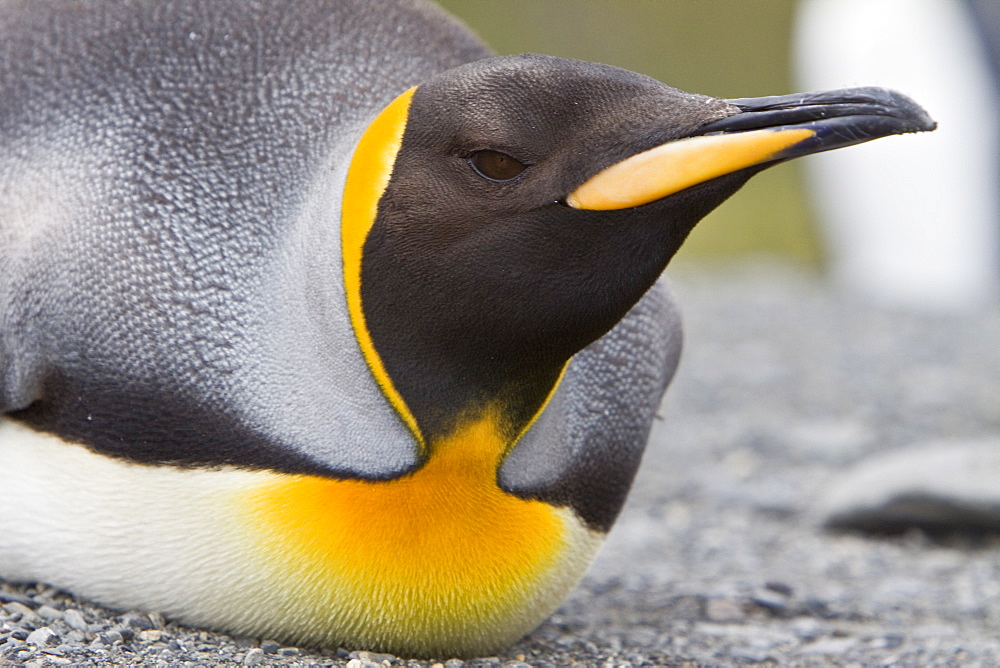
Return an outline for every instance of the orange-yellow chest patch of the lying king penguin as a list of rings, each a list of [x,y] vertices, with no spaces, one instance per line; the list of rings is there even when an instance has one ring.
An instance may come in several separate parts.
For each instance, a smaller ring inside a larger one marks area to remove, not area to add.
[[[503,492],[503,451],[482,419],[398,480],[287,476],[256,490],[249,518],[263,561],[320,612],[304,635],[482,651],[551,612],[601,535],[568,509]]]

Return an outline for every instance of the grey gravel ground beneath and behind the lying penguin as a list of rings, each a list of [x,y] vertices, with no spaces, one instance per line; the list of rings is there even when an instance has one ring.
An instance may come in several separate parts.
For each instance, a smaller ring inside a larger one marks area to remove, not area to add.
[[[865,457],[1000,435],[1000,309],[873,308],[791,270],[684,275],[679,375],[584,583],[467,666],[1000,666],[1000,538],[820,527]],[[462,662],[442,663],[448,668]],[[0,664],[430,665],[316,652],[0,582]]]

